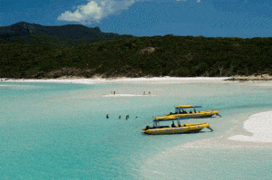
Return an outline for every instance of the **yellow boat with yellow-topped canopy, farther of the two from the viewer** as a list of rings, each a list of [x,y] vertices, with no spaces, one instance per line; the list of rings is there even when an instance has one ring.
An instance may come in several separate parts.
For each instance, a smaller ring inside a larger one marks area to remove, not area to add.
[[[156,117],[155,120],[162,120],[162,119],[169,119],[169,118],[209,118],[213,115],[219,115],[219,110],[203,110],[203,111],[197,111],[197,108],[202,108],[201,106],[193,106],[193,105],[180,105],[177,106],[175,109],[176,111],[174,113],[170,112],[164,117]],[[189,112],[187,112],[184,109],[190,109]],[[192,110],[193,109],[193,110]],[[220,116],[221,117],[221,116]]]

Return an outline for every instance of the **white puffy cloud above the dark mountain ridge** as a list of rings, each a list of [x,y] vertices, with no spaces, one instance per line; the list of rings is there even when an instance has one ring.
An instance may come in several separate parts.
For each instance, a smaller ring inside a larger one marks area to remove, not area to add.
[[[60,21],[79,22],[81,24],[99,23],[111,14],[121,14],[136,2],[146,0],[88,0],[87,5],[79,5],[74,12],[66,11],[58,17]],[[74,8],[75,9],[75,8]]]

